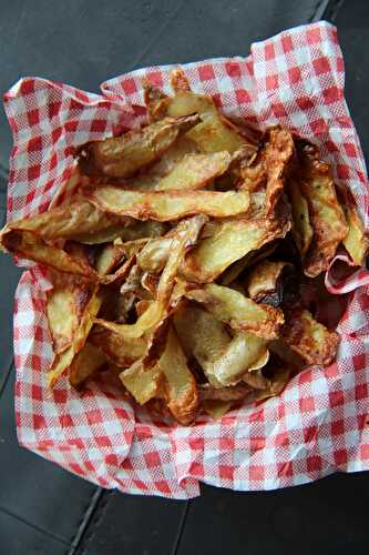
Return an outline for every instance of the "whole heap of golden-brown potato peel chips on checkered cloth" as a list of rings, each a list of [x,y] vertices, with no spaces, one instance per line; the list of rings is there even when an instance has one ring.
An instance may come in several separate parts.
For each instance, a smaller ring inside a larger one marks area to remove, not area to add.
[[[7,224],[0,244],[48,268],[50,386],[110,372],[188,425],[335,360],[339,336],[304,290],[321,289],[337,250],[362,265],[368,240],[315,145],[238,127],[180,69],[171,85],[145,83],[147,124],[80,145],[74,194]]]

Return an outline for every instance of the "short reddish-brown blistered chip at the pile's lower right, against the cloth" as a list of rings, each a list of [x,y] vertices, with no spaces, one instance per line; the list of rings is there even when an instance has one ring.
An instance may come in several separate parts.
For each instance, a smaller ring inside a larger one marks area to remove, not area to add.
[[[319,324],[307,310],[295,310],[283,329],[283,339],[308,364],[330,364],[337,353],[340,337]]]

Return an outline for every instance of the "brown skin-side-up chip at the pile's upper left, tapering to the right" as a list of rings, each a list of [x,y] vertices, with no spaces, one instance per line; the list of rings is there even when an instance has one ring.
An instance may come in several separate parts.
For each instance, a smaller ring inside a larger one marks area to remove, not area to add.
[[[86,175],[129,178],[161,158],[181,133],[198,121],[198,115],[164,118],[123,137],[89,142],[79,149],[79,167]]]

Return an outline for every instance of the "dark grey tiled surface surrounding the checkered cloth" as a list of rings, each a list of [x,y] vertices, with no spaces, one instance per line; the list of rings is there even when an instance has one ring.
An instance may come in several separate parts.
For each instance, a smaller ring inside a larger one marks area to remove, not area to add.
[[[249,43],[321,18],[344,49],[346,98],[369,153],[366,0],[12,0],[0,8],[0,90],[40,75],[99,91],[134,68],[246,56]],[[11,138],[0,113],[0,220]],[[268,493],[204,486],[191,502],[104,492],[18,446],[11,325],[20,275],[0,256],[0,553],[367,554],[369,474]]]

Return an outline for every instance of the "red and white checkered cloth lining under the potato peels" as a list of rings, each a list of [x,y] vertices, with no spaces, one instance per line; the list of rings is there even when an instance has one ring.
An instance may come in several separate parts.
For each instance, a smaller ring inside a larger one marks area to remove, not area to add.
[[[72,151],[145,117],[142,77],[167,90],[172,67],[148,68],[102,84],[102,95],[44,79],[21,79],[6,95],[14,137],[8,218],[47,210],[72,169]],[[227,114],[258,127],[280,122],[321,147],[337,181],[349,186],[369,224],[369,189],[360,143],[344,99],[344,60],[325,22],[252,46],[248,58],[183,65],[195,91]],[[52,359],[44,314],[49,284],[28,270],[16,295],[16,414],[19,442],[104,487],[187,498],[199,481],[234,490],[301,484],[335,471],[369,468],[369,278],[329,281],[350,304],[338,331],[338,359],[311,367],[264,404],[201,415],[192,427],[134,411],[114,385],[91,383],[80,395],[63,377],[51,393]]]

